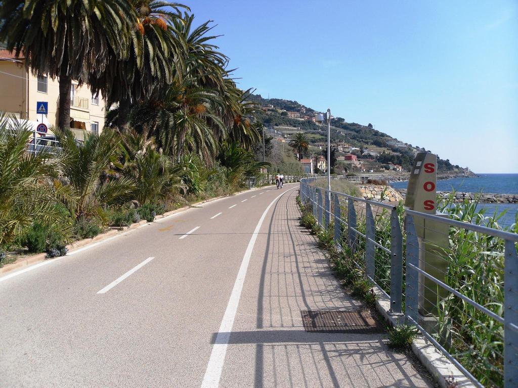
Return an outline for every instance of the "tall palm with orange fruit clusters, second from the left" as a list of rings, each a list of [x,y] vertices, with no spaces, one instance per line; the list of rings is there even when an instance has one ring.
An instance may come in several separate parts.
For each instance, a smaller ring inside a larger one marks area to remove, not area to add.
[[[114,125],[127,125],[132,103],[161,92],[174,78],[175,68],[183,67],[185,43],[173,27],[181,18],[184,5],[157,0],[131,0],[137,11],[137,24],[131,31],[129,56],[120,58],[109,50],[108,65],[104,72],[92,71],[90,84],[93,92],[102,92],[108,106],[118,103]],[[175,12],[171,12],[172,8]]]

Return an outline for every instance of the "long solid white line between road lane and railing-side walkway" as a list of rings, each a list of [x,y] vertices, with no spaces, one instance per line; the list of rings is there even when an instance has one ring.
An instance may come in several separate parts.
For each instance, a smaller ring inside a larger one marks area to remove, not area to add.
[[[217,388],[220,384],[221,370],[223,369],[223,363],[225,362],[228,339],[232,332],[234,319],[236,318],[237,307],[239,305],[239,299],[241,297],[241,291],[244,284],[244,277],[247,275],[248,264],[250,262],[250,257],[252,256],[255,241],[257,240],[257,235],[261,230],[261,226],[263,225],[263,221],[266,218],[266,214],[270,210],[270,207],[285,193],[294,188],[284,191],[281,195],[271,201],[259,219],[259,222],[257,222],[257,226],[255,227],[252,237],[250,238],[250,242],[248,243],[247,250],[244,252],[243,260],[241,261],[241,266],[239,267],[239,272],[237,273],[236,281],[234,282],[234,288],[232,289],[232,294],[228,300],[225,315],[221,321],[216,340],[214,341],[214,345],[212,345],[212,352],[210,353],[209,364],[207,365],[207,370],[205,371],[205,376],[203,378],[202,388]]]

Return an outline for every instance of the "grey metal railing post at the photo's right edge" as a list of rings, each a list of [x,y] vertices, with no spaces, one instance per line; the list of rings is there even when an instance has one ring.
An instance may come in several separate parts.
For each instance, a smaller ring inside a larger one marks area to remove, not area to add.
[[[518,386],[518,257],[514,242],[506,240],[503,316],[503,386]]]

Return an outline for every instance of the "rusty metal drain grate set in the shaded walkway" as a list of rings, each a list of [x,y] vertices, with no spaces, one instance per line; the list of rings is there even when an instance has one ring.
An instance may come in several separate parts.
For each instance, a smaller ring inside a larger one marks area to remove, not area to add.
[[[370,311],[310,310],[300,311],[304,330],[312,333],[383,333]]]

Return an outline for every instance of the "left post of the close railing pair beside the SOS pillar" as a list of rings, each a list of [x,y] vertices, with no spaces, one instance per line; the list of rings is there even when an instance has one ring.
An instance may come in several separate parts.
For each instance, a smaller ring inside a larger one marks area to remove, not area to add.
[[[396,208],[390,217],[390,309],[391,314],[400,314],[403,292],[403,235]]]

